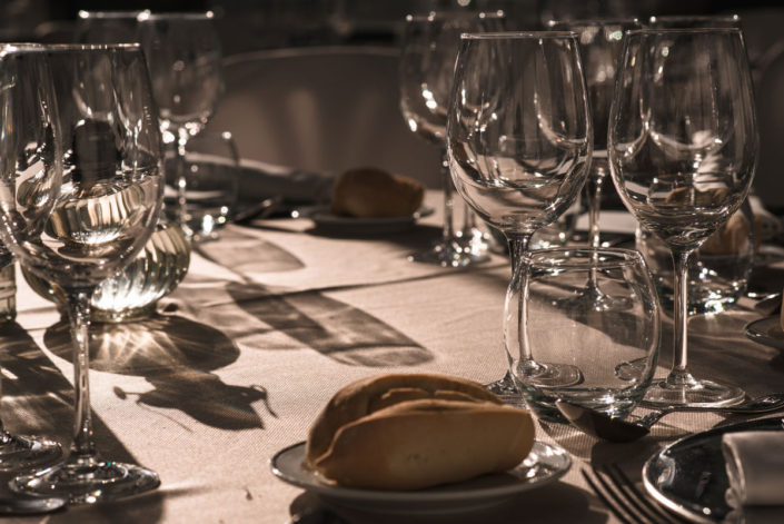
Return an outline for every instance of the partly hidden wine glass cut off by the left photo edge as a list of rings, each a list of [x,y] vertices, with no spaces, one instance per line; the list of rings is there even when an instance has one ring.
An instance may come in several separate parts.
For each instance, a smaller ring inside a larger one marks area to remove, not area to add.
[[[43,198],[52,200],[59,182],[58,164],[53,158],[59,148],[56,132],[54,100],[51,78],[43,60],[20,63],[10,58],[17,50],[13,46],[0,47],[0,177],[3,188],[13,188],[13,180],[38,178],[49,182],[38,190],[19,191],[22,199]],[[43,152],[49,155],[44,156]],[[27,186],[29,188],[29,186]],[[11,194],[13,191],[10,191]],[[16,204],[9,195],[7,205],[13,212]],[[31,216],[38,227],[43,225],[51,205],[41,205],[40,214]],[[13,256],[0,244],[0,268],[13,264]],[[0,421],[0,471],[18,471],[36,467],[60,458],[60,445],[7,432]]]

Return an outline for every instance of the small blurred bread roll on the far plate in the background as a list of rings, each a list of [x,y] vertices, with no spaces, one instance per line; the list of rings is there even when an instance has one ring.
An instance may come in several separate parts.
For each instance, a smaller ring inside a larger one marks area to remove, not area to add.
[[[331,211],[357,218],[405,217],[425,198],[425,187],[413,178],[375,168],[350,169],[333,186]]]

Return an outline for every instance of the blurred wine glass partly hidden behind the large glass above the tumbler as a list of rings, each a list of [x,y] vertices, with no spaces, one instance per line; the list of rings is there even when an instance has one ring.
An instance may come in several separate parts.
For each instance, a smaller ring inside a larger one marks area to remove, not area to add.
[[[430,12],[406,17],[400,58],[400,110],[411,131],[441,150],[444,185],[444,223],[441,238],[428,250],[409,258],[440,266],[467,266],[485,261],[482,235],[464,227],[463,235],[454,229],[453,182],[446,158],[446,116],[455,59],[462,32],[498,31],[504,13],[497,12]],[[466,217],[473,218],[472,212]]]

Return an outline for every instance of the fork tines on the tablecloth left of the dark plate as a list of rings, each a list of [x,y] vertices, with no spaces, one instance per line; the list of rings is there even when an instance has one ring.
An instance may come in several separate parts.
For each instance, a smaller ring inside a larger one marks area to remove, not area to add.
[[[596,496],[624,524],[679,524],[679,517],[665,512],[639,492],[616,464],[592,466],[580,473]]]

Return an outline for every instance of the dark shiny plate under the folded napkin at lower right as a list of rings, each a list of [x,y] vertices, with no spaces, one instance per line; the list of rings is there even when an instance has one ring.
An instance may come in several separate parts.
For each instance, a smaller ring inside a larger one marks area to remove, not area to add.
[[[782,423],[782,417],[777,416],[681,438],[645,463],[645,490],[663,505],[692,522],[722,522],[731,512],[725,501],[730,481],[722,453],[722,436],[734,432],[783,431]]]

